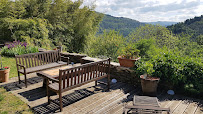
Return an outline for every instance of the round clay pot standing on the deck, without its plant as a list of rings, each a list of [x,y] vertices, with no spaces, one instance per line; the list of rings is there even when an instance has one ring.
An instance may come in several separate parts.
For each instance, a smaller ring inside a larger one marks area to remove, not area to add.
[[[156,96],[157,86],[158,86],[160,78],[151,77],[151,78],[145,79],[143,75],[141,75],[140,78],[141,78],[143,94],[149,95],[149,96]]]

